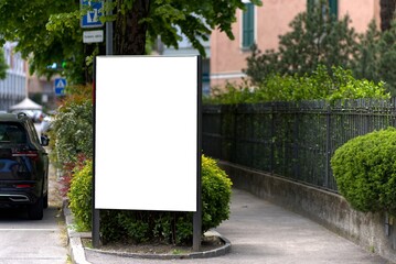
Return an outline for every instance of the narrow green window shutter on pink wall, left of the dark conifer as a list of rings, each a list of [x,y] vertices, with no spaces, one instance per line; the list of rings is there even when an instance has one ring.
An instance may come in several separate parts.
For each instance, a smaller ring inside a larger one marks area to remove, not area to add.
[[[250,48],[255,42],[255,6],[245,3],[242,16],[242,47]]]

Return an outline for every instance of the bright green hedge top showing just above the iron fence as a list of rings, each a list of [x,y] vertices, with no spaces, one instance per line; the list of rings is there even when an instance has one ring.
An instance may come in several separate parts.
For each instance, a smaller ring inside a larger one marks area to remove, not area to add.
[[[228,85],[226,91],[205,98],[207,103],[259,103],[268,101],[302,101],[324,99],[389,98],[383,82],[356,79],[352,70],[333,66],[329,72],[319,65],[311,74],[299,76],[274,74],[251,88]]]

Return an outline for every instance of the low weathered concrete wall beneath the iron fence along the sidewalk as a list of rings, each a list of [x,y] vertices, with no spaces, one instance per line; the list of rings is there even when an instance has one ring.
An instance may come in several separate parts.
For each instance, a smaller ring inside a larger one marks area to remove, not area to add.
[[[394,224],[392,220],[386,224],[384,213],[356,211],[334,193],[227,162],[220,162],[218,165],[226,170],[235,188],[308,217],[370,252],[396,260],[396,220]]]

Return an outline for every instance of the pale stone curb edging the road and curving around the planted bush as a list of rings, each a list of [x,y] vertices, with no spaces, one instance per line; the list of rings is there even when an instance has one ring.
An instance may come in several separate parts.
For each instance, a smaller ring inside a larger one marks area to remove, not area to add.
[[[85,251],[93,251],[107,255],[117,255],[131,258],[149,258],[149,260],[189,260],[189,258],[206,258],[222,256],[231,252],[231,242],[221,235],[217,231],[210,230],[206,233],[210,235],[217,237],[224,242],[224,245],[210,251],[192,252],[185,254],[139,254],[129,252],[115,252],[115,251],[103,251],[99,249],[84,249],[82,238],[90,238],[90,233],[82,233],[73,230],[74,218],[73,213],[68,209],[68,201],[63,201],[63,213],[65,216],[67,237],[68,237],[68,253],[74,264],[90,264],[85,257]]]

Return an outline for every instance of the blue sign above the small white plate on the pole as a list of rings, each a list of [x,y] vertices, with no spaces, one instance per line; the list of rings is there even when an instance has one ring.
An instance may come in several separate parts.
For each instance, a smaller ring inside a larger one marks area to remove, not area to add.
[[[81,7],[86,12],[81,22],[83,29],[100,28],[103,23],[99,18],[101,16],[103,1],[100,0],[81,0]],[[86,11],[85,11],[86,10]]]

